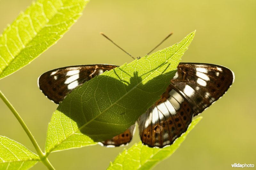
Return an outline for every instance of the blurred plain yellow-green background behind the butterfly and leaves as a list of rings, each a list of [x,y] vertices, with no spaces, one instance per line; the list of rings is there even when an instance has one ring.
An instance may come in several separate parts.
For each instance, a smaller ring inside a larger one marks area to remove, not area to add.
[[[31,0],[0,1],[0,32],[25,11]],[[255,0],[171,1],[91,0],[83,16],[60,41],[28,66],[0,80],[0,89],[27,123],[44,149],[46,130],[57,105],[37,87],[37,78],[58,67],[132,59],[100,35],[104,32],[134,56],[144,56],[168,33],[159,48],[171,46],[188,33],[195,38],[182,62],[213,63],[234,71],[227,94],[204,111],[172,157],[154,169],[231,169],[231,164],[256,164]],[[31,142],[10,110],[0,101],[0,135]],[[139,142],[138,129],[129,148]],[[56,169],[106,169],[124,147],[100,145],[52,153]],[[46,169],[42,163],[32,169]]]

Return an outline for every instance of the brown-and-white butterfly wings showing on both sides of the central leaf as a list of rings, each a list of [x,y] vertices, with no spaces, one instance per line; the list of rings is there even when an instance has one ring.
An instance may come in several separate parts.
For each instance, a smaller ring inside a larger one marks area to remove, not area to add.
[[[76,87],[116,65],[95,64],[62,67],[38,78],[44,95],[59,104]],[[137,120],[140,139],[149,147],[163,148],[174,143],[202,113],[223,96],[234,81],[234,73],[226,67],[207,63],[179,63],[171,84],[161,98]],[[107,147],[128,144],[135,124],[123,133],[100,142]]]

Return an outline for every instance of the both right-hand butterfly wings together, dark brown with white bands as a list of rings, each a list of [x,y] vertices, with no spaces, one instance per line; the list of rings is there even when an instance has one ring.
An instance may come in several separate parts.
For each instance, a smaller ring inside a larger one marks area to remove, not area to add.
[[[159,148],[172,144],[192,117],[223,96],[233,80],[233,72],[223,66],[180,63],[161,99],[138,119],[142,143]]]

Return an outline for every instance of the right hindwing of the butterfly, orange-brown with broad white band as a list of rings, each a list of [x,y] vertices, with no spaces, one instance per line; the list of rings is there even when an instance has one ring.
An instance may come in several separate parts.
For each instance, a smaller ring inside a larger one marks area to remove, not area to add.
[[[140,139],[149,147],[170,145],[188,129],[192,117],[188,101],[169,86],[161,99],[138,119]]]

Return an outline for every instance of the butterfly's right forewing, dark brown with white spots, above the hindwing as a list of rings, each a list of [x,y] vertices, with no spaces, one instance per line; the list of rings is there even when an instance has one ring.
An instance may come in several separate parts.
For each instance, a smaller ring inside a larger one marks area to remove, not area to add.
[[[223,66],[180,63],[171,86],[188,100],[196,116],[225,94],[233,78],[233,72]]]

